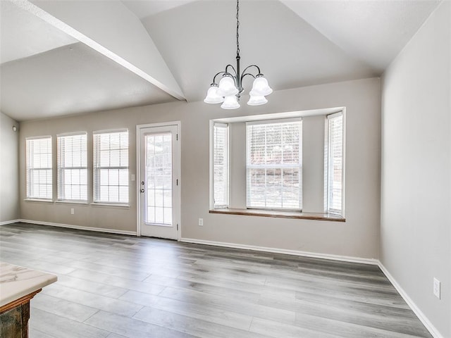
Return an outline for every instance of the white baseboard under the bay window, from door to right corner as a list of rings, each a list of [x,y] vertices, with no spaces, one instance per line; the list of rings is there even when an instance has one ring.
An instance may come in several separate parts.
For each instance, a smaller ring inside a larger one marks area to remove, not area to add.
[[[277,249],[277,248],[270,248],[270,247],[266,247],[266,246],[254,246],[254,245],[246,245],[246,244],[204,241],[202,239],[180,238],[180,242],[223,246],[226,248],[264,251],[264,252],[271,252],[271,253],[283,253],[285,255],[304,256],[304,257],[311,257],[311,258],[323,258],[323,259],[330,259],[333,261],[342,261],[342,262],[350,262],[350,263],[362,263],[362,264],[371,264],[371,265],[378,265],[378,263],[379,263],[378,260],[369,259],[369,258],[358,258],[358,257],[350,257],[350,256],[329,255],[327,253],[312,253],[312,252],[307,252],[307,251]]]

